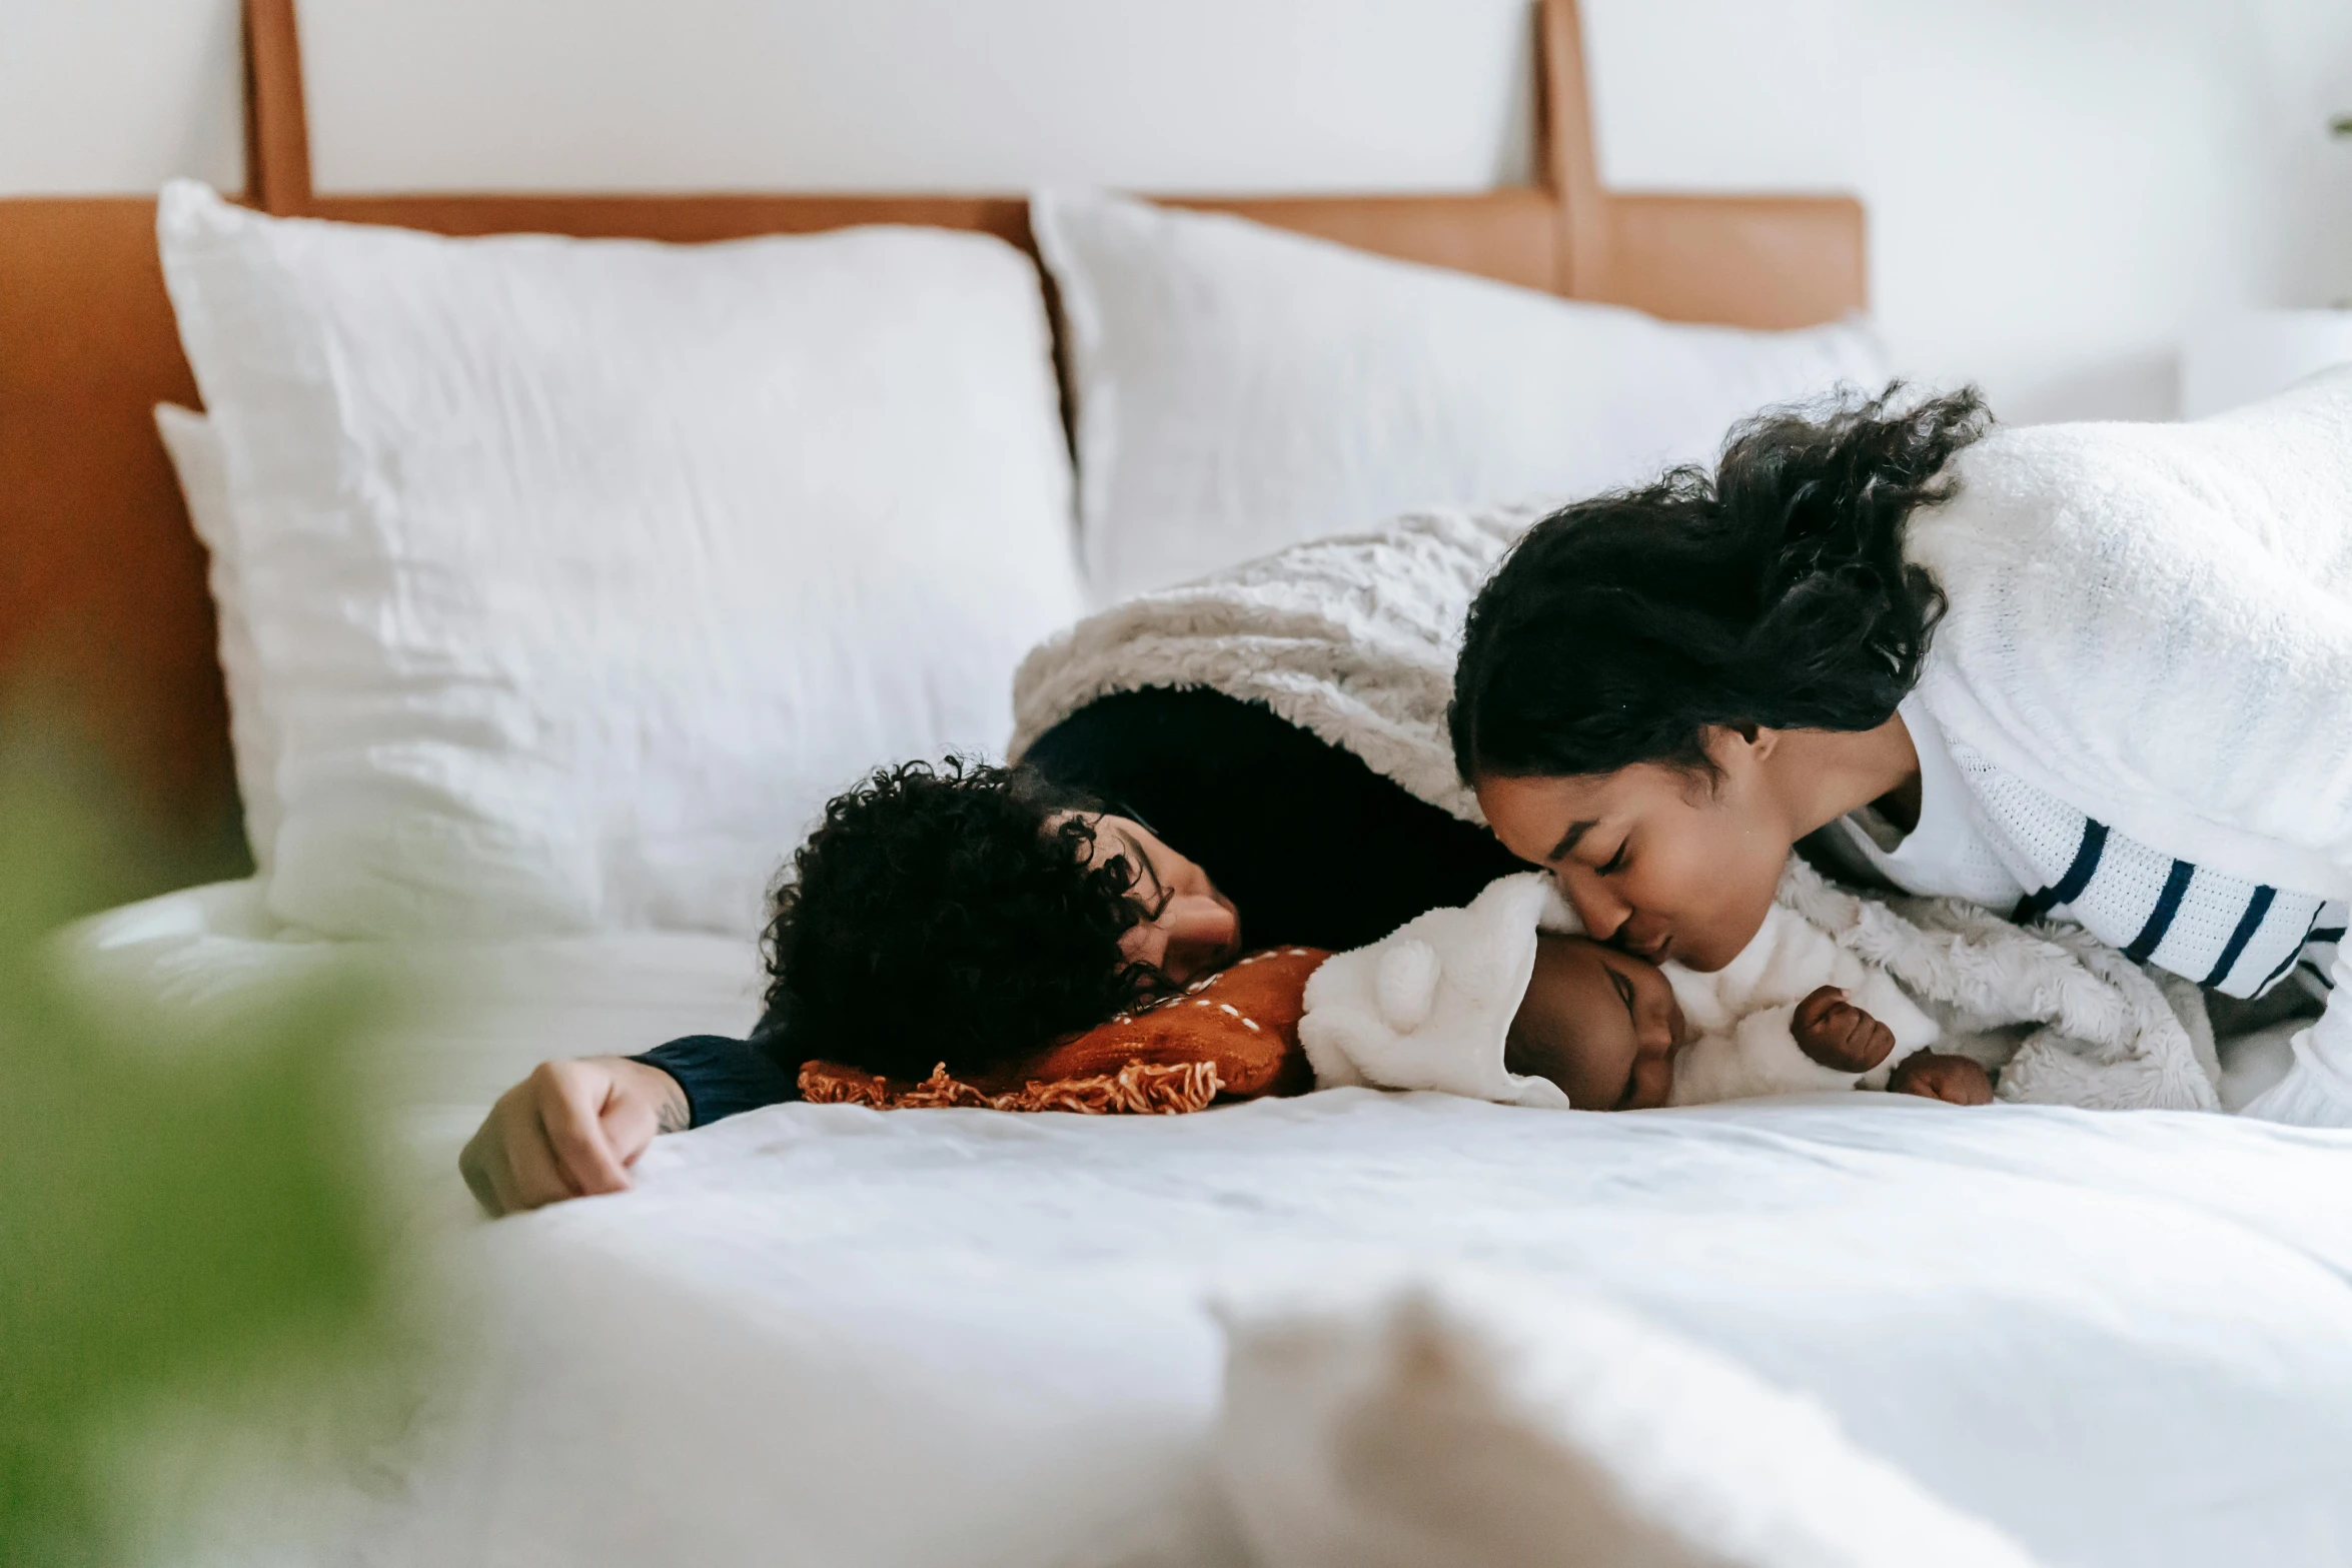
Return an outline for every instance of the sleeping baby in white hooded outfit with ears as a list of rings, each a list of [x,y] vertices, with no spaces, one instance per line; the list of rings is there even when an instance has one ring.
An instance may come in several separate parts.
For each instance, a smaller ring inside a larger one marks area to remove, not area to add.
[[[1505,1105],[1649,1110],[1806,1088],[1992,1100],[1884,973],[1773,905],[1715,973],[1583,936],[1541,872],[1324,961],[1298,1039],[1317,1088],[1442,1088]]]

